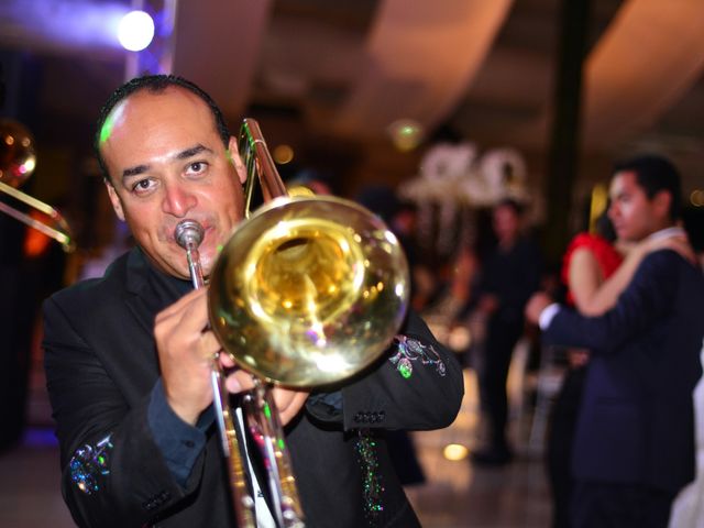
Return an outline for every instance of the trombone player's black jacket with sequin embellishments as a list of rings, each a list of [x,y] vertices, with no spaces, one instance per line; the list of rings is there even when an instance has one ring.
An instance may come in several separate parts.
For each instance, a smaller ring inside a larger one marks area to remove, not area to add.
[[[160,376],[153,321],[177,297],[157,292],[150,278],[155,273],[135,249],[116,261],[103,278],[74,285],[44,305],[45,369],[61,443],[64,497],[80,526],[231,527],[217,431],[209,431],[182,488],[147,422],[150,394]],[[287,430],[309,527],[417,526],[383,437],[375,447],[383,510],[370,519],[356,429],[446,427],[460,408],[463,386],[458,362],[420,318],[410,314],[402,333],[427,351],[432,346],[442,365],[417,356],[413,375],[405,378],[389,361],[398,352],[393,345],[372,369],[341,387],[341,414],[309,398]],[[95,475],[97,490],[86,494],[72,480],[70,461],[86,447],[96,449],[108,435],[105,471]]]

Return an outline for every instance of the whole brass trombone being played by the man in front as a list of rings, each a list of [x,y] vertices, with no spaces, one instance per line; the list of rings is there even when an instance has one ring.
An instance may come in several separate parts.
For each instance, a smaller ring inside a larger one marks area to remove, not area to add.
[[[245,220],[210,274],[209,321],[223,351],[255,376],[243,408],[262,448],[272,515],[279,527],[300,527],[302,508],[272,387],[334,384],[377,360],[406,314],[408,264],[396,237],[360,205],[287,196],[256,121],[243,121],[239,147],[248,168]],[[265,204],[250,215],[254,178]],[[184,220],[175,234],[194,285],[202,285],[196,223]],[[238,428],[215,363],[215,409],[235,515],[240,526],[254,526]]]

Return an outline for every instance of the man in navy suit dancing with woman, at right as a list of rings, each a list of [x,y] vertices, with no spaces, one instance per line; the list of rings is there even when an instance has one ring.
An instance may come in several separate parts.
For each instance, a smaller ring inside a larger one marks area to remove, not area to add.
[[[618,164],[609,195],[619,239],[681,233],[679,174],[669,161]],[[527,307],[543,341],[592,351],[573,447],[572,526],[666,527],[672,499],[694,477],[702,271],[675,251],[654,251],[602,317],[549,302],[535,296]]]

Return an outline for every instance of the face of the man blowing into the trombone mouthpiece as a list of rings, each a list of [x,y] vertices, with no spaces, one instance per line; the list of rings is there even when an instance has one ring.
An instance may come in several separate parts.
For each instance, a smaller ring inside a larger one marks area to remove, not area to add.
[[[112,184],[108,194],[163,272],[189,278],[186,253],[174,240],[179,221],[204,227],[199,253],[208,275],[218,248],[242,219],[246,173],[233,139],[229,146],[232,161],[210,109],[184,88],[138,91],[110,113],[100,145]]]

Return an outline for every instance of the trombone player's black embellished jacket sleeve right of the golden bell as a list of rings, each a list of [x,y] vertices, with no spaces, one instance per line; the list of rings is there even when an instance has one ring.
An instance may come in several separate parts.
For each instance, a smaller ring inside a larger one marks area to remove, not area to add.
[[[308,404],[316,418],[350,429],[430,430],[447,427],[464,394],[462,369],[438,343],[422,319],[410,311],[388,350],[362,375],[337,393],[341,408]],[[315,399],[312,402],[316,402]]]

